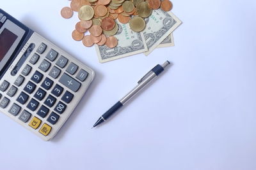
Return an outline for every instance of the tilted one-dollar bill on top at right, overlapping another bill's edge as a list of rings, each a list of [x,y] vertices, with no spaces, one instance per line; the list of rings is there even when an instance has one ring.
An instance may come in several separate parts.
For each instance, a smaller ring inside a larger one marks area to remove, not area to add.
[[[146,18],[146,28],[143,31],[148,51],[151,53],[164,39],[170,35],[182,22],[172,12],[152,10],[152,15]]]

